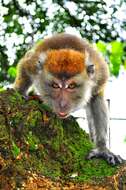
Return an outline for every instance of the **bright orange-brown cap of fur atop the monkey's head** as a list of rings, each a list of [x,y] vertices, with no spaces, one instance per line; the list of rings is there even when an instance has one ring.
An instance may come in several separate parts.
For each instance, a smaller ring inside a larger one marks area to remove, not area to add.
[[[47,53],[45,68],[55,74],[76,75],[84,70],[84,62],[84,53],[69,49],[51,50]]]

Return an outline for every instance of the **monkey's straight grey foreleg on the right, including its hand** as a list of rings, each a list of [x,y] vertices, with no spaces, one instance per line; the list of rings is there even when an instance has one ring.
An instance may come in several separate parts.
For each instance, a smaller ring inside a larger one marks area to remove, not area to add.
[[[106,147],[108,113],[104,98],[98,95],[94,96],[86,107],[86,114],[90,136],[96,145],[96,148],[89,153],[88,159],[100,157],[112,165],[122,163],[123,159],[120,156],[114,155]]]

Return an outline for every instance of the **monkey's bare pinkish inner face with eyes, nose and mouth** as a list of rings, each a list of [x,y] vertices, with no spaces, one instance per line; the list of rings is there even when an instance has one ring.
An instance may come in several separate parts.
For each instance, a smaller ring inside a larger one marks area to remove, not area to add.
[[[82,101],[83,84],[76,80],[54,79],[48,83],[49,96],[53,111],[60,118],[66,118],[74,111]]]

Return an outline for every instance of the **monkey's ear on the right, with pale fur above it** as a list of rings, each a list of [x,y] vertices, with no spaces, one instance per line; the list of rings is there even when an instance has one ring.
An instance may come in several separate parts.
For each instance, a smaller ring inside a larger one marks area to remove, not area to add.
[[[89,53],[85,52],[85,64],[86,64],[86,71],[89,77],[93,77],[95,73],[95,65],[92,63],[89,57]]]

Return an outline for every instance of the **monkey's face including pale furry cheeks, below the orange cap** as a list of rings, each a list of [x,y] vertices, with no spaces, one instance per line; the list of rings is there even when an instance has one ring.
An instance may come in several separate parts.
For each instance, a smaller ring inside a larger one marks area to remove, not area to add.
[[[36,88],[42,100],[60,118],[68,117],[71,112],[85,105],[91,96],[91,84],[80,74],[69,79],[59,79],[50,73],[41,76],[40,85],[36,85]]]

